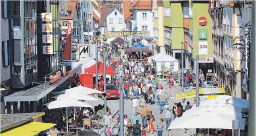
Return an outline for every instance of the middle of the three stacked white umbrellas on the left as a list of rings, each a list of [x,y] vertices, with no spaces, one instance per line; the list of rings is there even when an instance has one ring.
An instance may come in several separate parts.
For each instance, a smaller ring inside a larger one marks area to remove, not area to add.
[[[74,99],[74,100],[98,100],[90,95],[85,95],[85,94],[81,94],[81,93],[77,93],[77,92],[60,94],[60,95],[57,95],[52,98],[54,98],[56,100],[62,100],[65,98],[70,98],[70,99]]]

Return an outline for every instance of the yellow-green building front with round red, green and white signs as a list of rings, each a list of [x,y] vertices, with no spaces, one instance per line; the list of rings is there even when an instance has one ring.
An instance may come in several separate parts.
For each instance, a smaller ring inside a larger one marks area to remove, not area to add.
[[[199,56],[199,69],[207,80],[208,75],[213,74],[213,61],[207,58],[213,57],[212,18],[208,12],[208,1],[192,1],[192,16],[190,18],[190,44],[192,48],[192,63],[196,69],[196,55]]]

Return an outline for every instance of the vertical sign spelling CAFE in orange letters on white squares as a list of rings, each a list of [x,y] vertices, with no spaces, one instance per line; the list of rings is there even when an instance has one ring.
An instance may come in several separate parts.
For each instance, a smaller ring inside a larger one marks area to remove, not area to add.
[[[42,13],[42,21],[45,24],[42,24],[42,35],[43,39],[43,54],[53,54],[53,46],[52,46],[52,13]],[[50,22],[50,23],[49,23]]]

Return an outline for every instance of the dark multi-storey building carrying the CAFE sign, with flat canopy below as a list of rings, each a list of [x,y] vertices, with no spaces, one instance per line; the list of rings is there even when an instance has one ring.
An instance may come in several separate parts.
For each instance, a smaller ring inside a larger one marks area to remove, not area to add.
[[[42,111],[42,104],[48,103],[49,92],[54,88],[50,87],[46,77],[55,75],[55,71],[60,70],[59,5],[59,1],[8,1],[8,4],[4,5],[8,13],[8,18],[5,16],[4,19],[9,21],[5,33],[9,32],[7,36],[10,45],[10,58],[5,58],[10,61],[2,62],[5,66],[10,66],[12,90],[4,96],[4,102],[1,101],[1,107],[5,107],[1,108],[1,114]],[[52,26],[48,28],[52,35],[52,43],[48,43],[53,49],[51,54],[43,54],[42,41],[43,35],[46,34],[43,33],[42,27],[46,22],[42,21],[42,13],[52,13],[52,21],[47,22]],[[1,30],[4,30],[2,25]],[[6,45],[8,44],[5,44],[5,47]],[[1,80],[2,77],[1,75]]]

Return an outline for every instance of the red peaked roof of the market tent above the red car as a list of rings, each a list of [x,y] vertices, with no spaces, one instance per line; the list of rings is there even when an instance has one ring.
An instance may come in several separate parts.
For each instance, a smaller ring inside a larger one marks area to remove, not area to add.
[[[86,75],[95,75],[96,74],[96,64],[92,65],[91,67],[88,67],[85,69]],[[101,62],[98,62],[98,75],[104,74],[104,65]],[[112,69],[112,67],[106,66],[106,75],[115,75],[115,71]]]

